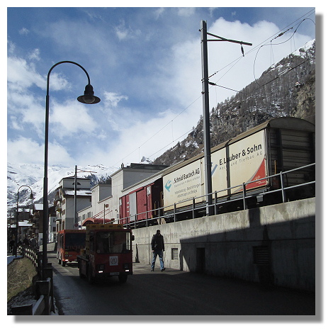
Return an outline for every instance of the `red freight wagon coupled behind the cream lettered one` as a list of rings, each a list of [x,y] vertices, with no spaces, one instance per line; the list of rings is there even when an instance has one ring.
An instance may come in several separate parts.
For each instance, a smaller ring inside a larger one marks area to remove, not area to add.
[[[135,223],[139,225],[154,225],[159,218],[163,196],[162,178],[136,188],[125,196],[120,197],[120,223]]]

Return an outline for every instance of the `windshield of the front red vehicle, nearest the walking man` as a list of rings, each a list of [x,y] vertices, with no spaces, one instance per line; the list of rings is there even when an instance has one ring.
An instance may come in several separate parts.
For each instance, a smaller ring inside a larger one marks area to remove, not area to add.
[[[96,252],[100,254],[130,252],[130,232],[96,232]]]

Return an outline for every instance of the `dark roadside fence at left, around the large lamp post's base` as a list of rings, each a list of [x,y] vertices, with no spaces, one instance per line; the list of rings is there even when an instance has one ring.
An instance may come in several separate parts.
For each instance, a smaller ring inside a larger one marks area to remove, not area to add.
[[[23,245],[18,247],[23,257],[30,259],[35,266],[38,277],[42,276],[42,252],[35,247]],[[47,263],[47,267],[43,271],[45,281],[36,281],[35,296],[37,302],[28,305],[13,306],[11,313],[13,315],[50,315],[50,312],[55,312],[55,302],[53,294],[53,271],[52,263]]]

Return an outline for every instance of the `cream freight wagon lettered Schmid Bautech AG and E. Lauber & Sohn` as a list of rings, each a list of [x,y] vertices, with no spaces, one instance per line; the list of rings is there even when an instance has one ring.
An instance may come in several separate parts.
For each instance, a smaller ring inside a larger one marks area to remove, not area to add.
[[[274,118],[211,150],[212,188],[218,202],[262,193],[281,186],[278,177],[267,178],[315,162],[315,125],[299,118]],[[163,174],[164,213],[205,202],[203,154],[166,169]],[[314,179],[314,170],[304,169],[285,176],[293,186]],[[268,197],[267,197],[268,198]],[[261,201],[261,197],[258,200]],[[273,197],[269,200],[273,200]]]

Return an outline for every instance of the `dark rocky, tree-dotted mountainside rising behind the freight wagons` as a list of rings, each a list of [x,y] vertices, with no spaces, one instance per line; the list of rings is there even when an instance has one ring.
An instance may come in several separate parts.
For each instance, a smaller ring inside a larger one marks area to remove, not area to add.
[[[242,91],[211,109],[211,146],[266,120],[285,116],[315,123],[315,40],[271,65]],[[174,165],[201,152],[203,117],[183,141],[157,157],[154,164]]]

